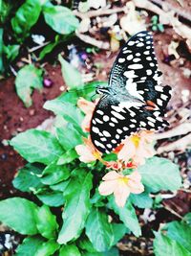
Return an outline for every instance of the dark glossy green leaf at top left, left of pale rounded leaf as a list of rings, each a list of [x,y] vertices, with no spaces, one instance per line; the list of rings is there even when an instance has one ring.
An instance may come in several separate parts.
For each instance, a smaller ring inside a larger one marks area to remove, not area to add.
[[[15,16],[11,19],[11,27],[20,40],[22,37],[29,35],[29,31],[37,22],[40,12],[39,0],[26,0],[17,10]]]

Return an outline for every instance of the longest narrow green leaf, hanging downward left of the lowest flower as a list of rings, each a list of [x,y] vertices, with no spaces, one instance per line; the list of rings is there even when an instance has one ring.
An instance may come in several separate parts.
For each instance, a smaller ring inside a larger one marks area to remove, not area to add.
[[[92,178],[91,173],[82,169],[75,169],[72,173],[71,181],[64,191],[66,204],[62,214],[64,223],[57,240],[59,244],[74,241],[84,228],[91,208]]]

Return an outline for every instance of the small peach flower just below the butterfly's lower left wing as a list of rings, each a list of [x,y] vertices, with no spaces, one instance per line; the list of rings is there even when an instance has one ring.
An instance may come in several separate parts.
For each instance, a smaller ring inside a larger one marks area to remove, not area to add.
[[[101,158],[102,153],[96,150],[90,137],[88,139],[83,138],[83,141],[85,145],[75,146],[75,151],[80,155],[79,160],[84,163],[90,163],[97,159],[104,162]]]

